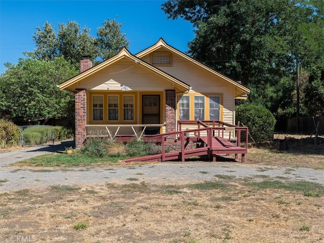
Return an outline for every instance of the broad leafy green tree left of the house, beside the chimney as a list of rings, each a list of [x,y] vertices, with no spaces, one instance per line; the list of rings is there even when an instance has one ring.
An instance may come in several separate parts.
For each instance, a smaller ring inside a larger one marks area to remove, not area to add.
[[[56,85],[76,75],[77,71],[62,57],[42,61],[28,56],[20,58],[16,65],[6,63],[6,67],[0,76],[2,116],[34,123],[43,120],[45,123],[49,118],[68,115],[66,110],[73,94],[60,91]]]

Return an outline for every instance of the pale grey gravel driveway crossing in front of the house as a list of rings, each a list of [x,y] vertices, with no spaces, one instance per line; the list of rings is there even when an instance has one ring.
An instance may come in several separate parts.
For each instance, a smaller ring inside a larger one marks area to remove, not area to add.
[[[129,166],[70,168],[13,167],[12,163],[30,157],[64,150],[72,141],[53,146],[33,147],[0,154],[0,192],[51,185],[86,185],[94,183],[142,182],[157,184],[189,183],[213,180],[215,175],[235,177],[270,177],[305,180],[324,185],[324,171],[309,168],[277,168],[236,162],[153,163]]]

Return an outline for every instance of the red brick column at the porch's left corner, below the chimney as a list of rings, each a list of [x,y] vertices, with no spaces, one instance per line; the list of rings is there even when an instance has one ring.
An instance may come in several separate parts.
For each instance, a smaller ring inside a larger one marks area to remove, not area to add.
[[[75,90],[75,148],[83,146],[87,138],[87,92]]]

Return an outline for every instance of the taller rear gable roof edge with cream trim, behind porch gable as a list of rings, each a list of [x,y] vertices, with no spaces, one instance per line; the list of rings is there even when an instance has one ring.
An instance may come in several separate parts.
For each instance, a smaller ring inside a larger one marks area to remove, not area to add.
[[[235,98],[236,99],[246,99],[247,98],[247,94],[250,93],[250,89],[245,87],[244,85],[241,85],[239,84],[238,82],[236,82],[235,80],[217,72],[216,70],[206,66],[205,64],[195,60],[194,58],[192,57],[189,57],[188,55],[186,55],[185,53],[177,50],[176,48],[174,47],[171,47],[169,46],[163,38],[160,38],[157,43],[155,43],[153,46],[137,53],[135,56],[138,57],[138,58],[142,58],[143,56],[146,56],[154,51],[157,51],[158,49],[160,48],[165,48],[165,49],[168,49],[169,51],[173,52],[173,53],[176,53],[177,55],[183,57],[184,59],[190,61],[190,62],[193,62],[195,63],[196,65],[200,66],[201,68],[204,68],[205,70],[215,74],[216,76],[222,78],[223,80],[225,80],[226,82],[232,84],[234,87],[235,87]]]

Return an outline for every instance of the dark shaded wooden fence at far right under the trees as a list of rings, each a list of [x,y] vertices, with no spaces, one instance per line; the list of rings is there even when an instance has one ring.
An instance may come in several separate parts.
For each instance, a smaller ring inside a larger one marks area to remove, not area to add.
[[[318,123],[319,122],[319,123]],[[288,118],[287,132],[301,134],[316,134],[316,126],[318,126],[318,135],[324,134],[324,116],[308,116],[299,117],[299,131],[297,131],[296,117]]]

